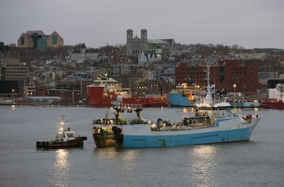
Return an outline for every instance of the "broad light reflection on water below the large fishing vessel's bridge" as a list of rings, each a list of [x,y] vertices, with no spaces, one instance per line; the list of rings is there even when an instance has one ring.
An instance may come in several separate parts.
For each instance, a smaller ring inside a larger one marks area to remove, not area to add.
[[[193,147],[189,155],[189,177],[201,186],[216,186],[215,173],[217,160],[217,145],[200,145]]]

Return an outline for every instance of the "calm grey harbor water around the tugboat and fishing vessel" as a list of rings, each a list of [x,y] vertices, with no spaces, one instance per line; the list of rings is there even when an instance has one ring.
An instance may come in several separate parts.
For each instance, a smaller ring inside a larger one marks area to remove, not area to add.
[[[192,112],[144,108],[142,114],[173,122]],[[97,149],[91,122],[113,117],[109,108],[0,105],[0,186],[283,186],[284,110],[258,112],[263,119],[248,142]],[[36,149],[36,141],[56,137],[61,114],[67,126],[87,136],[84,148]]]

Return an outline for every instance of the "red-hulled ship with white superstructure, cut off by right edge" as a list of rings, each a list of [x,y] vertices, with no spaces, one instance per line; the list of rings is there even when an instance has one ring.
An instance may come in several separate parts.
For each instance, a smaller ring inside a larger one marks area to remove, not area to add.
[[[261,101],[263,108],[284,109],[284,84],[277,84],[276,88],[269,89],[269,101]]]

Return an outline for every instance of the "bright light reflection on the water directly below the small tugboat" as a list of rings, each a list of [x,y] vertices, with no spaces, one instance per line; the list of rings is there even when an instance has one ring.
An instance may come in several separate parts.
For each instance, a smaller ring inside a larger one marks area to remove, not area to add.
[[[66,149],[58,149],[56,152],[55,162],[55,186],[69,186],[70,162],[69,151]]]

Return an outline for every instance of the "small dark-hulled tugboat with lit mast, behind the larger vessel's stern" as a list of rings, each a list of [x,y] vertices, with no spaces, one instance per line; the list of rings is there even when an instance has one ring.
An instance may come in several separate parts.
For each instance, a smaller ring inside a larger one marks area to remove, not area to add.
[[[58,129],[57,136],[55,140],[36,142],[36,148],[38,149],[65,149],[65,148],[78,148],[84,146],[84,140],[87,139],[86,136],[75,136],[70,127],[64,129],[65,115],[61,115],[61,127]]]

